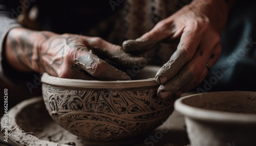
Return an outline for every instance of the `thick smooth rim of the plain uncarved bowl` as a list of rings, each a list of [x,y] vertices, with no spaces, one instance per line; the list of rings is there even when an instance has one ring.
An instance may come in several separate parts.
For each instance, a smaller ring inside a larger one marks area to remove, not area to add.
[[[175,101],[174,108],[185,117],[193,118],[200,121],[208,121],[210,123],[252,123],[256,124],[256,114],[247,114],[247,113],[231,113],[231,112],[222,112],[216,110],[202,109],[198,107],[189,106],[184,104],[183,101],[188,98],[194,98],[195,96],[200,97],[200,95],[205,94],[222,94],[224,92],[231,93],[256,93],[252,91],[218,91],[218,92],[207,92],[207,93],[197,93],[193,95],[184,96]]]

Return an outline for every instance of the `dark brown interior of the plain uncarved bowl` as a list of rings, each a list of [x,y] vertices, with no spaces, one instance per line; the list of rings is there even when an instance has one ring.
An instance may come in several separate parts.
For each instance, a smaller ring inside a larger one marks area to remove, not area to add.
[[[256,92],[209,92],[185,98],[182,103],[207,110],[256,114]]]

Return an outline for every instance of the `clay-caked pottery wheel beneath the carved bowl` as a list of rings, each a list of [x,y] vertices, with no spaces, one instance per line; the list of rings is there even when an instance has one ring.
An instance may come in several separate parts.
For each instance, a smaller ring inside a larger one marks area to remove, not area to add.
[[[2,124],[3,122],[1,122],[1,127],[3,127]],[[189,141],[184,125],[183,117],[174,112],[162,126],[148,133],[148,136],[134,146],[186,145]],[[9,127],[9,139],[17,145],[86,146],[84,140],[71,134],[52,120],[42,97],[23,101],[10,109]]]

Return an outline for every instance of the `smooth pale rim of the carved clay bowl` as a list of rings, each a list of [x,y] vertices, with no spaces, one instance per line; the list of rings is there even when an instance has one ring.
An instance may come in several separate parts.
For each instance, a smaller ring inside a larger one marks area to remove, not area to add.
[[[160,69],[159,66],[148,65],[145,68],[152,67],[153,69]],[[142,80],[129,81],[98,81],[98,80],[79,80],[79,79],[65,79],[53,77],[46,72],[41,77],[41,82],[53,86],[75,87],[75,88],[93,88],[93,89],[123,89],[123,88],[138,88],[159,86],[156,78],[148,78]]]

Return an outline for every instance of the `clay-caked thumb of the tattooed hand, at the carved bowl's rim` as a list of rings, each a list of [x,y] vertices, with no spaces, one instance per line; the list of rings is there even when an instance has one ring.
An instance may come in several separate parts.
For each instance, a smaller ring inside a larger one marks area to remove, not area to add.
[[[72,71],[73,76],[80,79],[88,78],[88,75],[90,75],[92,79],[95,78],[97,80],[131,80],[125,72],[98,58],[91,50],[88,55],[80,56],[75,59],[72,68],[72,70],[75,70]],[[83,72],[83,74],[81,74],[81,72]],[[76,74],[81,77],[77,77]]]

